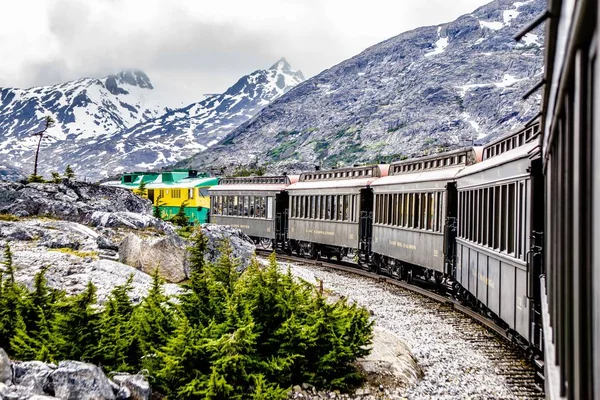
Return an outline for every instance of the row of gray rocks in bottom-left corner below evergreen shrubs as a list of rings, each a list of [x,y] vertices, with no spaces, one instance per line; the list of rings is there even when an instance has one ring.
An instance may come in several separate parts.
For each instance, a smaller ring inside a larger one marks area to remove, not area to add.
[[[0,399],[147,400],[150,385],[141,375],[109,374],[93,364],[11,361],[0,348]]]

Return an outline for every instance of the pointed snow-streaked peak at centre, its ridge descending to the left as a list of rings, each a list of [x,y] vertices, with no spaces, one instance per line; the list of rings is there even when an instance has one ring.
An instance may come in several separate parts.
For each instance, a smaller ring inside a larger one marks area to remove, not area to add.
[[[107,160],[115,172],[174,163],[214,145],[303,81],[302,72],[282,58],[267,70],[242,77],[222,94],[138,124],[99,141],[98,147],[118,150]]]

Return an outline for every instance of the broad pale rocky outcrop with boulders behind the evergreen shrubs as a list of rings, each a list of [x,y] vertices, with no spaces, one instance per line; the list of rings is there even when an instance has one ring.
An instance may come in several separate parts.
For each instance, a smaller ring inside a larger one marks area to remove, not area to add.
[[[187,279],[189,242],[175,227],[150,215],[150,202],[131,191],[64,180],[60,184],[0,182],[0,248],[10,245],[17,279],[28,286],[47,268],[50,286],[80,293],[88,281],[103,302],[133,275],[131,297],[144,296],[158,268],[167,282]],[[222,239],[249,260],[252,241],[237,229],[205,226],[207,259],[216,261]],[[166,284],[174,294],[179,287]]]

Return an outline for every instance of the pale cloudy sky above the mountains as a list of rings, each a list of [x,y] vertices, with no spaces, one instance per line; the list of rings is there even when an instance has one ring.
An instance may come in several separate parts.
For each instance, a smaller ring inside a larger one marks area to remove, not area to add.
[[[163,104],[221,93],[285,57],[309,78],[488,0],[5,0],[0,87],[141,69]]]

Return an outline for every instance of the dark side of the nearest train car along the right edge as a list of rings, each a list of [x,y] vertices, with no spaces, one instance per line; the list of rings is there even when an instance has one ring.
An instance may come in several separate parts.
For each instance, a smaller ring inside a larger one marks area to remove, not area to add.
[[[548,0],[541,17],[547,22],[540,285],[550,398],[600,399],[599,4]]]

